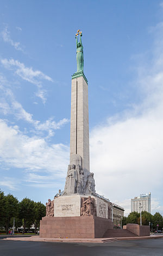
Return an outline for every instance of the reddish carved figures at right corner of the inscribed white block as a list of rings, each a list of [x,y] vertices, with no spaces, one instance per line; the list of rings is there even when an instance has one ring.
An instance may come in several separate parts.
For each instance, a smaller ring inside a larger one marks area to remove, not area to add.
[[[96,206],[94,198],[82,198],[81,216],[96,216]]]

